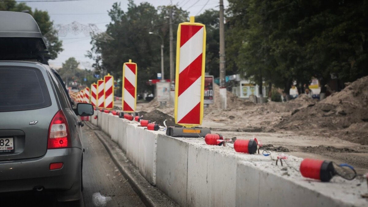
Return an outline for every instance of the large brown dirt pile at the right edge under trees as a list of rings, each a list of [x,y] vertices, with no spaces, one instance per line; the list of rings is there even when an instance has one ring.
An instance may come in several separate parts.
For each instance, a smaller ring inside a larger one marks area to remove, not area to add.
[[[368,76],[326,99],[299,108],[276,127],[287,130],[330,130],[345,140],[368,144]]]

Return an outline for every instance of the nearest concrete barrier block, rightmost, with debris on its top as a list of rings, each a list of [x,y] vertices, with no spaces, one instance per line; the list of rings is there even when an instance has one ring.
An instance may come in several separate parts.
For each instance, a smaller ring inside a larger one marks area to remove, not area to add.
[[[290,168],[280,169],[268,162],[238,162],[236,206],[367,206],[360,198],[364,189],[358,180],[335,177],[322,183],[302,178]]]

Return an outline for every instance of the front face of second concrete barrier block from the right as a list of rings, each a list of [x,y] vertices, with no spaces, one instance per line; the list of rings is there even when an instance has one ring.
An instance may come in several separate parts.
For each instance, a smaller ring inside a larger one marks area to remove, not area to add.
[[[187,206],[235,206],[236,159],[191,145]]]

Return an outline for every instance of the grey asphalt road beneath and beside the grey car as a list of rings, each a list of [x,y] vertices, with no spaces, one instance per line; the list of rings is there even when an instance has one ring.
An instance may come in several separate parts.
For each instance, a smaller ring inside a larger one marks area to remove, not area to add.
[[[121,175],[111,160],[105,147],[87,126],[83,127],[83,137],[85,148],[83,161],[84,190],[79,203],[59,203],[50,192],[22,192],[0,194],[0,207],[93,207],[92,194],[98,192],[103,196],[112,198],[107,203],[108,207],[144,206],[127,179]]]

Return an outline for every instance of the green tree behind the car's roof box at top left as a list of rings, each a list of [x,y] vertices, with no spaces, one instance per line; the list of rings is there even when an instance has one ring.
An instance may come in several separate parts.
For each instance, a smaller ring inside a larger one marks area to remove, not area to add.
[[[44,35],[50,59],[56,59],[57,54],[63,51],[62,41],[59,40],[56,31],[53,29],[53,22],[47,11],[41,11],[27,6],[25,3],[17,3],[15,0],[0,1],[0,11],[27,11],[36,20],[40,31]]]

